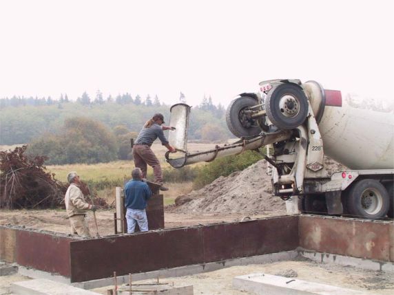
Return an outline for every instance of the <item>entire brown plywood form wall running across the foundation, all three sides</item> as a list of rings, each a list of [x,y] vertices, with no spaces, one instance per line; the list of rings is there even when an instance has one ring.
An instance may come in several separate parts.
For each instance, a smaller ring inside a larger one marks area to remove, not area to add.
[[[293,215],[72,239],[0,226],[0,259],[61,274],[72,282],[295,250],[394,261],[394,223]]]

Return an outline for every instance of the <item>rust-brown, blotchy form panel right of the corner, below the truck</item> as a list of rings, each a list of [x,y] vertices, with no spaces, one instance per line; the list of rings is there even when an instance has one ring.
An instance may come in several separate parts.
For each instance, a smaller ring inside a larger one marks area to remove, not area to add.
[[[394,261],[393,221],[300,216],[300,246],[364,259]]]

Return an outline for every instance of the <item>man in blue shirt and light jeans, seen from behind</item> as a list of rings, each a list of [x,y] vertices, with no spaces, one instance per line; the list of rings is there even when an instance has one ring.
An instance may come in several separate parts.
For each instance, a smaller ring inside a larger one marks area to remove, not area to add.
[[[147,200],[152,197],[149,186],[143,182],[143,171],[141,168],[134,168],[133,179],[125,185],[125,207],[127,208],[127,233],[132,234],[136,228],[136,223],[141,232],[147,232]]]

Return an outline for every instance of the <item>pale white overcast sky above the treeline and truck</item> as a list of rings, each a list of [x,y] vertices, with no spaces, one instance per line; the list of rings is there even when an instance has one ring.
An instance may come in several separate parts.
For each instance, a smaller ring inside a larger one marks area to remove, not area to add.
[[[0,98],[183,91],[228,105],[261,80],[394,99],[394,1],[0,0]]]

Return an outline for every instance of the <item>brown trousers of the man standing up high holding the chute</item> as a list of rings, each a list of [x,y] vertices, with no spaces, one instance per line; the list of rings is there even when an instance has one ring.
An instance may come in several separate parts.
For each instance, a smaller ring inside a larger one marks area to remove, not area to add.
[[[147,164],[153,168],[154,182],[156,184],[163,184],[163,174],[161,173],[160,162],[158,162],[156,155],[150,149],[150,146],[143,144],[134,144],[133,146],[134,165],[141,168],[143,171],[143,178],[147,177]]]

